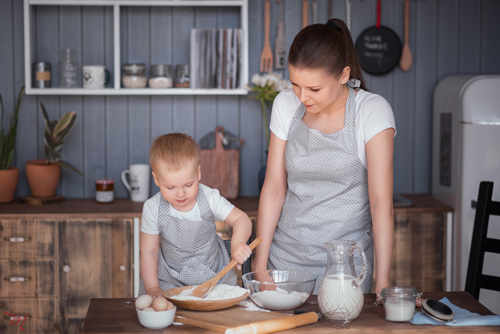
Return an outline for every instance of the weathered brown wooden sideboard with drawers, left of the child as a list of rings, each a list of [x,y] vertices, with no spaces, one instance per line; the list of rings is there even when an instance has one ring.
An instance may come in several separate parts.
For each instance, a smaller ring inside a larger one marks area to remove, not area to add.
[[[90,298],[132,297],[142,203],[0,206],[0,332],[79,333]],[[26,316],[9,325],[10,316]]]

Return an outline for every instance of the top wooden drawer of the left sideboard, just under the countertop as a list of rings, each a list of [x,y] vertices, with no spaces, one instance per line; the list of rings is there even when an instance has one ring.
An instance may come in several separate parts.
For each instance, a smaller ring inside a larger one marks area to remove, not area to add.
[[[54,257],[55,222],[0,220],[0,257]]]

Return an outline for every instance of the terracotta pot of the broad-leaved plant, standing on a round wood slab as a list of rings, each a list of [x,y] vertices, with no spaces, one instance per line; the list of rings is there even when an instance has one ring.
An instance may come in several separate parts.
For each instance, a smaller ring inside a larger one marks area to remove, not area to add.
[[[31,196],[53,196],[59,184],[61,166],[47,164],[45,159],[29,160],[26,161],[26,176]]]

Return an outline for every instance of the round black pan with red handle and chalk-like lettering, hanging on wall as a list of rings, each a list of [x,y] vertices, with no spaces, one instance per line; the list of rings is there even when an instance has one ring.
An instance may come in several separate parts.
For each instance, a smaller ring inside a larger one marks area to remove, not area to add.
[[[369,74],[385,74],[399,62],[401,42],[394,31],[380,26],[380,0],[377,0],[376,26],[363,31],[355,47],[361,67]]]

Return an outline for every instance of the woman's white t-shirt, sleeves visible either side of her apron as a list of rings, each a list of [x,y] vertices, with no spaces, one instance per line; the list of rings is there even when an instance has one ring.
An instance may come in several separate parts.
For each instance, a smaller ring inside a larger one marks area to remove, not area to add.
[[[300,107],[298,97],[293,89],[285,89],[279,93],[272,103],[269,128],[276,137],[287,140],[291,119]],[[356,94],[355,131],[359,160],[366,168],[366,151],[364,145],[377,133],[394,128],[394,114],[389,103],[380,95],[360,89]]]

